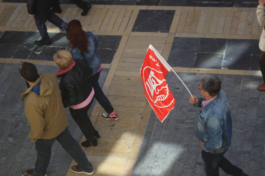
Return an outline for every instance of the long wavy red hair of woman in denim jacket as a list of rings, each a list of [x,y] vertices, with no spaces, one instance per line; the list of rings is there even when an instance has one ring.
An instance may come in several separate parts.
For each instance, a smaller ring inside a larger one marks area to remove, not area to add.
[[[81,23],[78,20],[72,20],[68,23],[69,33],[67,39],[72,48],[78,47],[81,54],[89,53],[87,46],[90,44],[87,40],[87,33],[82,29]]]

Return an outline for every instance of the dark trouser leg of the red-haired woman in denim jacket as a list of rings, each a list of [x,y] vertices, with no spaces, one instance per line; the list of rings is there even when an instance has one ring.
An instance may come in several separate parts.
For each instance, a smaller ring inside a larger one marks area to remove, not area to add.
[[[114,111],[113,107],[110,104],[109,99],[106,97],[106,95],[103,93],[99,83],[98,83],[98,79],[100,77],[100,72],[97,72],[95,75],[91,76],[88,78],[90,84],[92,85],[92,87],[95,90],[95,95],[94,97],[96,98],[96,100],[99,102],[99,104],[102,106],[103,109],[105,109],[105,111],[110,114]]]

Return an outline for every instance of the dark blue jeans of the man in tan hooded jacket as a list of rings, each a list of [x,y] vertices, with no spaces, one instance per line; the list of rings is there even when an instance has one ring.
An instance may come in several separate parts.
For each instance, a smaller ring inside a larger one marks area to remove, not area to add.
[[[35,142],[35,149],[37,150],[37,160],[35,163],[34,173],[37,175],[45,175],[47,167],[51,158],[51,148],[54,141],[57,140],[64,150],[77,162],[77,164],[85,172],[92,172],[92,164],[87,160],[85,153],[83,152],[80,145],[72,137],[68,127],[59,134],[57,137],[52,139],[38,139]]]

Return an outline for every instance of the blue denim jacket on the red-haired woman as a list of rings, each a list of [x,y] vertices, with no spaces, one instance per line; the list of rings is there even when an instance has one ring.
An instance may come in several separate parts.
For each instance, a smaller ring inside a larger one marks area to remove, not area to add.
[[[84,60],[87,66],[89,66],[93,70],[92,75],[95,75],[100,69],[101,65],[100,57],[99,55],[96,54],[99,44],[97,42],[95,35],[93,35],[92,32],[88,31],[87,34],[88,34],[87,40],[89,41],[89,45],[87,46],[87,48],[89,50],[89,53],[84,52],[84,55],[82,55],[80,53],[79,48],[75,47],[72,48],[71,54],[72,54],[72,59]]]

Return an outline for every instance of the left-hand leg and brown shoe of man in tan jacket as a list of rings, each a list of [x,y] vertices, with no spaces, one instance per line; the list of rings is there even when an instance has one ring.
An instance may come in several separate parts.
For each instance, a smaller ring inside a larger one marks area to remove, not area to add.
[[[38,176],[46,176],[47,167],[50,163],[52,144],[55,138],[52,139],[38,139],[35,144],[37,151],[37,160],[35,167],[32,170],[24,170],[22,175],[28,176],[30,174],[37,174]]]

